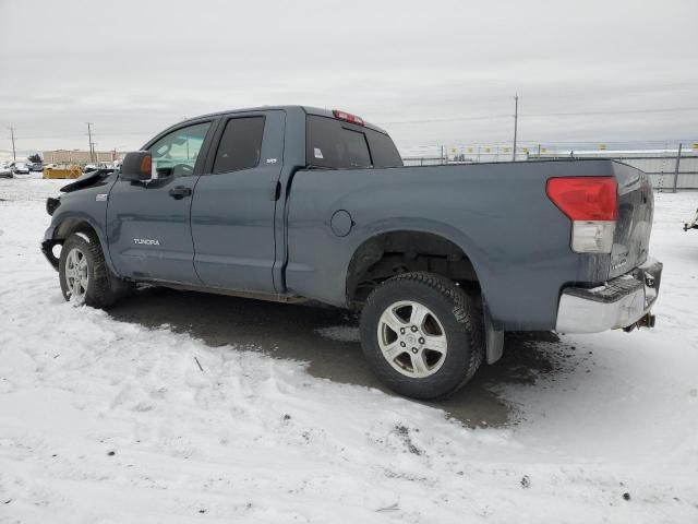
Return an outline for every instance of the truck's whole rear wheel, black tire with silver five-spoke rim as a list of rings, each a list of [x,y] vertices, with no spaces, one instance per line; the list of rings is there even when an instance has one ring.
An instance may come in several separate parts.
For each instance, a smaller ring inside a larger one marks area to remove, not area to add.
[[[484,355],[476,299],[452,281],[405,273],[373,290],[361,313],[361,344],[378,378],[414,398],[458,391]]]

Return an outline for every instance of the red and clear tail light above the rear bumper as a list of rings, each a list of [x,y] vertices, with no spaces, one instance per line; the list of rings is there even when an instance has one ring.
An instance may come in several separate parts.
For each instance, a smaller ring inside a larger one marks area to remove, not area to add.
[[[545,192],[571,221],[573,251],[611,252],[618,218],[618,188],[615,178],[551,178]]]

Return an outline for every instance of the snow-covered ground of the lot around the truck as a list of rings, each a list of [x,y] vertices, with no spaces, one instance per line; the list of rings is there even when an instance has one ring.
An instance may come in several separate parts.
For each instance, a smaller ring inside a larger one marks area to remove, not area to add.
[[[698,522],[698,193],[657,194],[657,329],[539,343],[564,372],[467,428],[63,302],[38,249],[63,183],[0,181],[0,522]]]

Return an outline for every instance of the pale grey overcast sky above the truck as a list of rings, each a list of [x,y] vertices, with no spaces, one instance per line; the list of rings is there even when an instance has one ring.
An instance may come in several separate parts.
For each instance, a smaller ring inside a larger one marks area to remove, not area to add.
[[[401,148],[698,142],[698,1],[0,0],[0,150],[141,146],[183,117],[340,108]]]

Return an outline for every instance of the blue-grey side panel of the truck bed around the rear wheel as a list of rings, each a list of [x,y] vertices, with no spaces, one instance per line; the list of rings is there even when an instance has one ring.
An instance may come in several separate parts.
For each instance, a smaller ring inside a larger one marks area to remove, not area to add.
[[[569,219],[547,199],[559,176],[610,176],[607,160],[553,160],[386,169],[302,170],[288,202],[286,286],[346,306],[354,251],[394,230],[441,235],[470,258],[495,323],[550,330],[559,290],[607,277],[609,255],[574,253]],[[354,226],[336,236],[330,218]]]

